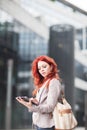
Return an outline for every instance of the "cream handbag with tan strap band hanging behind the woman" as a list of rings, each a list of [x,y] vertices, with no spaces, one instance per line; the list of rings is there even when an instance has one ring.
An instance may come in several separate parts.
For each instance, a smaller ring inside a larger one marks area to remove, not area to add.
[[[72,112],[71,105],[64,97],[62,98],[62,103],[57,103],[53,112],[53,118],[55,129],[57,130],[71,130],[77,126],[77,120]]]

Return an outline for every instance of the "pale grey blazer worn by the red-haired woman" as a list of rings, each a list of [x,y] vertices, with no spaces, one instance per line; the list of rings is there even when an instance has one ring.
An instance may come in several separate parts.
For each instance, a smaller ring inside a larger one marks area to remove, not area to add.
[[[54,126],[54,120],[53,117],[50,116],[50,113],[53,112],[61,92],[59,80],[55,78],[52,79],[49,83],[49,89],[45,87],[46,83],[41,87],[36,96],[39,105],[32,105],[29,109],[29,111],[33,112],[33,124],[41,128],[50,128]]]

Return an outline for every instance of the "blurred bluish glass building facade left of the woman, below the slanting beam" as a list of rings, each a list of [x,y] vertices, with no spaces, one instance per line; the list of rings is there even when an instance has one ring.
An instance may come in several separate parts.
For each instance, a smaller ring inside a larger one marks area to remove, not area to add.
[[[47,55],[47,41],[0,10],[0,129],[6,124],[7,61],[14,61],[11,93],[11,128],[31,128],[31,113],[15,100],[32,95],[31,63],[39,55]]]

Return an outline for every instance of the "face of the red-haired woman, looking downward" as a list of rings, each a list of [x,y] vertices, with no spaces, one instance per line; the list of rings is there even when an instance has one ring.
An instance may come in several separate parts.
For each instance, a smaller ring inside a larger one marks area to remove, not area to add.
[[[52,66],[45,61],[38,62],[38,71],[45,78],[51,72]]]

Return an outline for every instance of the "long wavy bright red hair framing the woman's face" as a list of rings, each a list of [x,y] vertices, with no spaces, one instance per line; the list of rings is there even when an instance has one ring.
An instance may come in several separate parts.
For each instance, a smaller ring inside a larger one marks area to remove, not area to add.
[[[49,65],[52,66],[52,71],[50,72],[50,74],[47,76],[46,79],[44,79],[44,77],[42,77],[40,75],[39,71],[38,71],[38,62],[39,61],[45,61],[46,63],[48,63]],[[33,61],[33,63],[32,63],[32,75],[33,75],[33,79],[34,79],[34,85],[36,86],[34,93],[36,93],[36,91],[42,86],[42,84],[46,80],[52,79],[52,78],[60,79],[59,75],[58,75],[58,68],[57,68],[56,62],[54,61],[53,58],[45,56],[45,55],[39,56]]]

